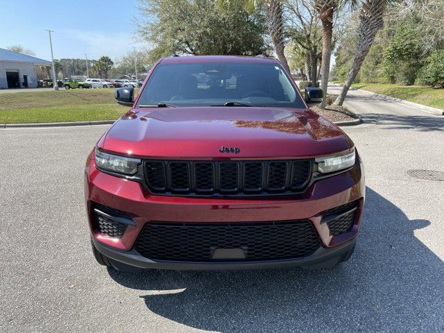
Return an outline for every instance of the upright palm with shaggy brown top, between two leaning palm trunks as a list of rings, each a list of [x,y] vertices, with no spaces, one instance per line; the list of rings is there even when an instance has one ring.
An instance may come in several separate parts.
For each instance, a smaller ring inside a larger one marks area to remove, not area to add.
[[[330,57],[332,56],[333,16],[339,6],[338,0],[314,0],[314,8],[318,12],[322,24],[322,67],[321,88],[324,92],[321,108],[325,108],[327,97],[328,76],[330,73]]]

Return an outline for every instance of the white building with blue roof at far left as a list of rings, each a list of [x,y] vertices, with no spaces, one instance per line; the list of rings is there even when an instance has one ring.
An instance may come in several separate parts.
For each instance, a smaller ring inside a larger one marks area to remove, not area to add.
[[[37,87],[35,66],[51,66],[51,62],[0,49],[0,89]]]

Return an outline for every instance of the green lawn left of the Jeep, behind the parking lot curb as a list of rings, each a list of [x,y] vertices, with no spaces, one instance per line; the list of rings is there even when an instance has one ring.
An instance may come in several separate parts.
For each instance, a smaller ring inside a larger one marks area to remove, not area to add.
[[[112,88],[0,94],[0,123],[113,120],[127,110]]]

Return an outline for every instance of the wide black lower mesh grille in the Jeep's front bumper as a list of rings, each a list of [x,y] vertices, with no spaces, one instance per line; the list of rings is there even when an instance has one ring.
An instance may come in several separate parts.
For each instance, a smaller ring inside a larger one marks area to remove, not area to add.
[[[298,258],[320,246],[309,221],[147,223],[136,249],[150,259],[212,261],[216,249],[242,249],[245,259]]]

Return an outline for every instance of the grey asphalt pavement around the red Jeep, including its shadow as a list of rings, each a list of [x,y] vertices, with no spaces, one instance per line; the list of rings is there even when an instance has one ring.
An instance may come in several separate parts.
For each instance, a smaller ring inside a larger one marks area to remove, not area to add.
[[[377,108],[344,128],[366,166],[357,249],[319,271],[107,270],[83,202],[107,126],[0,130],[0,332],[444,332],[444,182],[407,176],[444,171],[444,117]]]

